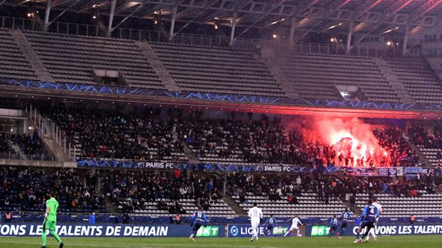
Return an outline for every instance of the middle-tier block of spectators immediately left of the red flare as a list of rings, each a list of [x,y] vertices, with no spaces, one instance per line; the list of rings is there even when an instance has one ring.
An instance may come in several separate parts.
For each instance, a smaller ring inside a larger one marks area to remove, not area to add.
[[[195,149],[198,158],[217,155],[251,163],[311,163],[300,149],[302,135],[295,130],[287,132],[278,118],[270,122],[265,114],[259,121],[195,118],[182,122],[177,132]]]

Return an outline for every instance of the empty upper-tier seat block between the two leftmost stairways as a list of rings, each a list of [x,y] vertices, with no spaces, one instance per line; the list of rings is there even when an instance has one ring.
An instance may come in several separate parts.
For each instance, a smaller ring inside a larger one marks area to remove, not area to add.
[[[95,83],[92,70],[122,72],[131,87],[163,89],[146,56],[133,41],[47,32],[24,32],[57,82]]]

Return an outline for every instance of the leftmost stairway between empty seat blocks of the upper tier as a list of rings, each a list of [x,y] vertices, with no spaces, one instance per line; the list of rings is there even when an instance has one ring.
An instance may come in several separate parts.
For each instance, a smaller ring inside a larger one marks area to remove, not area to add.
[[[35,52],[34,48],[28,42],[28,39],[24,36],[21,30],[16,29],[11,31],[11,36],[14,41],[19,46],[20,51],[29,61],[32,70],[35,71],[37,79],[44,82],[55,82],[55,80],[50,76],[48,69],[44,66],[43,61],[39,59],[39,56]]]

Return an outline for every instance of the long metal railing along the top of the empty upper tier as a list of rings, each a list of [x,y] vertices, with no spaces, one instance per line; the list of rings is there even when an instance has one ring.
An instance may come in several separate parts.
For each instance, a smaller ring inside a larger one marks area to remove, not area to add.
[[[15,17],[0,17],[0,28],[21,29],[21,30],[37,30],[41,29],[35,19],[23,19]],[[89,37],[106,37],[106,30],[102,30],[98,25],[87,25],[79,23],[53,22],[48,27],[48,32],[57,34],[75,34],[86,35]],[[111,34],[112,38],[130,39],[135,41],[149,42],[172,42],[186,45],[208,45],[222,46],[238,49],[256,50],[264,46],[288,48],[288,41],[285,39],[246,39],[238,38],[232,45],[229,44],[228,37],[217,37],[204,34],[183,34],[176,33],[173,39],[169,41],[168,35],[164,32],[155,30],[140,30],[133,28],[115,28]],[[355,56],[401,56],[400,50],[391,48],[374,49],[368,46],[355,45],[352,50],[347,53],[347,46],[343,44],[320,44],[320,43],[296,43],[291,50],[295,52],[312,53],[312,54],[351,54]]]

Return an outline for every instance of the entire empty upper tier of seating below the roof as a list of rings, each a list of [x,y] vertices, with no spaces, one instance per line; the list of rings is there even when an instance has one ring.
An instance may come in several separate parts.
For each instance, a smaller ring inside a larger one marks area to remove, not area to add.
[[[441,81],[422,59],[289,50],[260,59],[251,50],[48,32],[0,30],[0,37],[0,77],[7,79],[42,80],[44,70],[55,82],[97,84],[93,69],[103,69],[121,72],[130,87],[156,90],[342,100],[349,87],[358,100],[442,103]],[[26,59],[35,56],[42,63]]]

